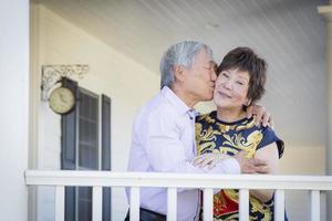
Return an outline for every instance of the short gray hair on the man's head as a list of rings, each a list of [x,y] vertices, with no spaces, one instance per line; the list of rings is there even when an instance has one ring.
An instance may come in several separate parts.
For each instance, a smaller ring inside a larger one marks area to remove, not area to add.
[[[212,50],[210,46],[196,41],[183,41],[172,45],[163,55],[160,61],[160,88],[164,86],[170,87],[175,82],[174,66],[184,65],[190,69],[195,62],[196,54],[200,50],[205,50],[212,59]]]

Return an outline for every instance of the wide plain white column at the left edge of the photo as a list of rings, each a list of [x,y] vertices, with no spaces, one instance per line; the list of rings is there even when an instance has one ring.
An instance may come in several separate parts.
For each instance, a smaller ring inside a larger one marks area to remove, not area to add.
[[[0,1],[1,220],[28,220],[29,0]]]

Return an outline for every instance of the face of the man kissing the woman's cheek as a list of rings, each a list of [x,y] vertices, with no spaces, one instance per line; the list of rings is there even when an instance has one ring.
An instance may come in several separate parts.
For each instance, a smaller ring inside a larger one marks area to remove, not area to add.
[[[212,99],[217,75],[215,62],[205,50],[197,53],[194,64],[185,72],[185,86],[193,99],[196,103]]]

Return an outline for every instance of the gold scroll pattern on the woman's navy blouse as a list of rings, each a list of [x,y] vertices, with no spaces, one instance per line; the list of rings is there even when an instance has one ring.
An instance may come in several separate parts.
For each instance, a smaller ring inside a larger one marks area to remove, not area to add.
[[[203,128],[203,124],[199,122],[204,120],[208,123],[207,128]],[[217,126],[219,129],[214,129],[214,126]],[[228,155],[235,155],[240,150],[245,150],[247,152],[248,158],[252,158],[258,145],[263,138],[263,134],[260,129],[251,131],[249,135],[243,136],[241,130],[252,128],[255,126],[255,118],[246,119],[240,124],[227,125],[220,122],[217,122],[210,115],[200,115],[196,123],[196,140],[197,140],[197,152],[198,155],[206,152],[222,152]],[[229,133],[232,130],[234,133]],[[224,138],[224,141],[220,144],[221,146],[217,147],[217,139],[220,136]],[[226,196],[228,196],[234,201],[238,202],[238,191],[234,189],[225,189],[222,190]],[[226,199],[221,194],[215,194],[214,201],[215,203],[221,204],[221,207],[226,207]],[[255,197],[250,196],[250,203],[252,204],[251,211],[253,213],[260,212],[262,214],[261,220],[271,220],[271,211],[269,210],[269,206],[261,203]],[[229,215],[227,218],[228,221],[238,219],[238,213]],[[258,218],[250,217],[250,221],[253,221]],[[214,220],[218,220],[218,218],[214,218]]]

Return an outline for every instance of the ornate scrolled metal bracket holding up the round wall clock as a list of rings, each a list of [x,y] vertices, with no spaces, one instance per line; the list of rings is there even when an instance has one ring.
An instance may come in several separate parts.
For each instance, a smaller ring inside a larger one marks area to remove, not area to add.
[[[61,80],[61,77],[82,80],[89,70],[90,67],[87,64],[42,65],[42,101],[48,101],[50,90]]]

